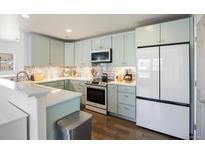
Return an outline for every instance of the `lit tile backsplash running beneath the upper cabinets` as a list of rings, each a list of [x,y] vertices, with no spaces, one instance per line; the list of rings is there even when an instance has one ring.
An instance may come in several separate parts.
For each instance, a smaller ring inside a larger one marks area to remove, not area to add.
[[[94,68],[97,72],[96,77],[101,78],[102,73],[107,73],[109,79],[115,79],[117,75],[124,75],[126,69],[130,69],[133,75],[133,80],[136,79],[135,67],[112,67],[111,64],[97,64],[90,67],[74,67],[74,66],[43,66],[43,67],[25,67],[29,75],[43,74],[46,79],[63,77],[65,72],[71,76],[72,70],[76,70],[77,77],[91,78],[90,70]]]

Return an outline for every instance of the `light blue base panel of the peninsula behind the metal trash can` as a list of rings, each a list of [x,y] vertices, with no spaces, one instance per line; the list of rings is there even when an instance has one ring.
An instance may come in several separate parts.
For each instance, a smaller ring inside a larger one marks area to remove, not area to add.
[[[47,107],[47,139],[59,139],[56,121],[80,110],[80,97]]]

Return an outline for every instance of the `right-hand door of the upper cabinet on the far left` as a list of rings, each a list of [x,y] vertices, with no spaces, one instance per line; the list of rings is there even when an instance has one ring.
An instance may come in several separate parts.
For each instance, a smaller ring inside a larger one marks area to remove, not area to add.
[[[50,40],[50,63],[65,65],[65,45],[63,41]]]

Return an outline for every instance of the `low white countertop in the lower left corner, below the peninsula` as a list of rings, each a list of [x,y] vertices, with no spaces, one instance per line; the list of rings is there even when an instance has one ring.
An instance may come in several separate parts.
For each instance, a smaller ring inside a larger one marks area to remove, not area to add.
[[[0,101],[0,125],[27,117],[27,114],[10,104]]]

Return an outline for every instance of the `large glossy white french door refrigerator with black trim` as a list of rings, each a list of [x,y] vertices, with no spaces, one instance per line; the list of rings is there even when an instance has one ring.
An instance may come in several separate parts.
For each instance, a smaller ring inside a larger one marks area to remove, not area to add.
[[[138,126],[189,139],[189,53],[189,44],[137,49]]]

